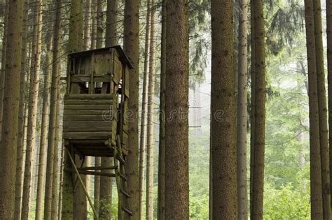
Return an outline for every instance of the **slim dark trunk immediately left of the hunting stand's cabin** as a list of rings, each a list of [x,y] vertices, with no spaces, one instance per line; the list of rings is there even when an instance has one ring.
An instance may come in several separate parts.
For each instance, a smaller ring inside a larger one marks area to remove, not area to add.
[[[53,25],[53,63],[52,63],[52,82],[50,90],[50,122],[48,124],[48,149],[46,161],[46,189],[44,219],[50,220],[52,214],[52,191],[53,191],[53,160],[55,145],[55,130],[57,126],[57,90],[60,83],[60,51],[61,51],[61,16],[62,0],[54,0],[55,3],[55,22]]]

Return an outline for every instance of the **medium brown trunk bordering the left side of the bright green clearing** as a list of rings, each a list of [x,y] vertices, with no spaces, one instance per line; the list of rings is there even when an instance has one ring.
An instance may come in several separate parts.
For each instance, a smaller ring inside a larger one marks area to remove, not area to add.
[[[255,126],[252,216],[263,219],[263,182],[265,150],[265,39],[263,0],[254,0],[255,28]]]

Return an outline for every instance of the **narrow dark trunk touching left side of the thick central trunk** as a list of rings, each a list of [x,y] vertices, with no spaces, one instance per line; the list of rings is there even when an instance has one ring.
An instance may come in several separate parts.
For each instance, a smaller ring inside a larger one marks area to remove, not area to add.
[[[165,79],[166,79],[166,0],[162,0],[160,60],[160,112],[158,155],[158,219],[165,220]]]

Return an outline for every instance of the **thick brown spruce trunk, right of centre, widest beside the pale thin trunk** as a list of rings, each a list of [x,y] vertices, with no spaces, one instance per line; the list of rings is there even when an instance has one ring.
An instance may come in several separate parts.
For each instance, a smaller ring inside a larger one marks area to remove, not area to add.
[[[212,217],[237,219],[233,1],[212,0],[211,6]]]

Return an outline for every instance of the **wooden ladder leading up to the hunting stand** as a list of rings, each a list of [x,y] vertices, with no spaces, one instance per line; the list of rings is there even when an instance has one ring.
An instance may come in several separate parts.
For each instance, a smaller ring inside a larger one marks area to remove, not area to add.
[[[123,149],[120,135],[116,137],[116,146],[113,146],[113,160],[116,169],[116,185],[118,188],[118,219],[131,219],[132,211],[129,209],[127,177],[125,176],[125,159],[123,159]]]

